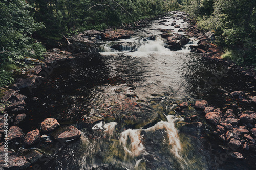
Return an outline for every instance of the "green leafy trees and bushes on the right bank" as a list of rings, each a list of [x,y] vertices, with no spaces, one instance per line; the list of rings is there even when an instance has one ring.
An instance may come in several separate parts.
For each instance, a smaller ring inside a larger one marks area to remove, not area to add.
[[[185,9],[201,29],[215,31],[215,43],[229,51],[224,56],[232,55],[230,58],[242,65],[255,65],[255,0],[190,0]]]

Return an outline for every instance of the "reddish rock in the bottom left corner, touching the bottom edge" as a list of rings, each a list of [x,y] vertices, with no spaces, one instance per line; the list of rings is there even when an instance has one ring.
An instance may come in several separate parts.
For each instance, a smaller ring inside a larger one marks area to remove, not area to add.
[[[29,163],[28,161],[24,160],[21,157],[11,155],[8,157],[7,169],[26,169],[30,166],[30,164],[31,163]]]

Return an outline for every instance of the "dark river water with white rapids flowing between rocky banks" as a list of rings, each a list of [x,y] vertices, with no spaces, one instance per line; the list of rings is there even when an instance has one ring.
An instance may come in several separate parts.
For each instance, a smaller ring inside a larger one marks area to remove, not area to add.
[[[176,25],[188,26],[177,18]],[[78,53],[76,59],[59,62],[50,78],[27,94],[39,98],[27,102],[31,125],[27,131],[53,117],[62,125],[75,125],[83,134],[50,162],[39,161],[42,169],[213,169],[212,157],[221,152],[212,153],[219,141],[207,135],[210,127],[204,116],[189,106],[187,116],[198,115],[200,123],[185,126],[185,116],[173,108],[197,99],[224,107],[218,95],[247,88],[248,81],[190,52],[188,46],[196,39],[181,50],[165,48],[158,28],[178,29],[170,26],[173,17],[164,19],[136,30],[131,39],[105,42],[100,54]],[[156,40],[147,38],[151,35]],[[111,48],[115,44],[122,44],[120,51]],[[214,88],[203,89],[216,74],[224,78]],[[233,165],[250,169],[244,164],[226,160],[220,169]]]

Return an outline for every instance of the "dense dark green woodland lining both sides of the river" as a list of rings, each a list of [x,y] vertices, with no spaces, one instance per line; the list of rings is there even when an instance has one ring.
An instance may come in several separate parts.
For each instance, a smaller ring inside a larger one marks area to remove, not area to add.
[[[215,32],[223,57],[256,66],[255,0],[0,0],[0,86],[12,83],[11,70],[41,59],[42,39],[60,40],[84,30],[102,30],[185,10],[201,29]]]

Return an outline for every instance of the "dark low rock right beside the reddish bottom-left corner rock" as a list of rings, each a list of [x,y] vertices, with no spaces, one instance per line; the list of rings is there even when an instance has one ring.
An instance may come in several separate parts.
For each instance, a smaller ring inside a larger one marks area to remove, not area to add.
[[[35,163],[38,161],[42,156],[44,156],[42,153],[36,150],[32,149],[23,149],[19,150],[18,154],[23,157],[25,160],[29,160],[31,163]]]

